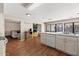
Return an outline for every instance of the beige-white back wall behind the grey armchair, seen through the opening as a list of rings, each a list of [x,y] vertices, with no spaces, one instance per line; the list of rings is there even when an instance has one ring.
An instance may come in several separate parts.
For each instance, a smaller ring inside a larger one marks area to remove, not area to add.
[[[5,35],[10,35],[12,30],[20,30],[20,23],[18,22],[9,22],[6,20],[5,22]]]

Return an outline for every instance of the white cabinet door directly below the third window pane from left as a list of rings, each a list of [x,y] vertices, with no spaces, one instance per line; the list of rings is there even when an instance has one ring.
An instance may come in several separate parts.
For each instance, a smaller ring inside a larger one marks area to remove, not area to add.
[[[56,49],[64,51],[64,36],[61,35],[56,36]]]

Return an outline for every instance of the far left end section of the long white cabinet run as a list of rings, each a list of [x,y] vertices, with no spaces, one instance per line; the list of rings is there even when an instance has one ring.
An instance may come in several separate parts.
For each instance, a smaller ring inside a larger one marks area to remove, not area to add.
[[[55,48],[55,35],[53,34],[41,34],[41,43]]]

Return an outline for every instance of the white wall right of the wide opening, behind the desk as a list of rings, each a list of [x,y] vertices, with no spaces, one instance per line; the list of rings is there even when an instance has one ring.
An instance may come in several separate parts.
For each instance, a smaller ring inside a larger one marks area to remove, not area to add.
[[[25,39],[25,31],[28,31],[30,28],[32,28],[32,23],[28,23],[28,22],[25,22],[25,21],[21,21],[21,40],[24,40]]]

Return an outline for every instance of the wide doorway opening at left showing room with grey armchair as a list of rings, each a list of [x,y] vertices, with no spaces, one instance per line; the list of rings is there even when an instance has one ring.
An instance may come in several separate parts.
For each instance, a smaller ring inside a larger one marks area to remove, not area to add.
[[[11,19],[5,19],[5,37],[8,40],[20,39],[20,22]]]

